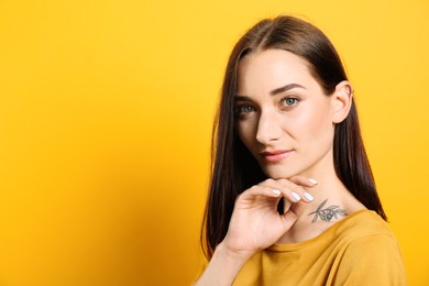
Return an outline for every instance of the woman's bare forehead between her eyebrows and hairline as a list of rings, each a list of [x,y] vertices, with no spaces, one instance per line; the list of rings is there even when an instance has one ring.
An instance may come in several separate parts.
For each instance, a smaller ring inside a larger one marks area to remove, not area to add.
[[[239,64],[239,92],[267,92],[288,84],[318,85],[304,58],[284,51],[252,53]]]

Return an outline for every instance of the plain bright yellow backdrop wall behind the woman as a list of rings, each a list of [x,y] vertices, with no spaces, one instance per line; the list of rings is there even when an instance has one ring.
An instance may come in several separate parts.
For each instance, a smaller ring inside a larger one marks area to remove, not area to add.
[[[429,2],[0,0],[0,285],[187,285],[227,57],[322,29],[356,90],[410,285],[429,284]]]

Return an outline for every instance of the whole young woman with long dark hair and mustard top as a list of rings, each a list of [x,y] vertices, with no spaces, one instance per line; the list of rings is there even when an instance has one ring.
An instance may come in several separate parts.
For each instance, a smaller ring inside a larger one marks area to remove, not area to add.
[[[326,35],[264,20],[230,56],[196,285],[405,285],[353,87]]]

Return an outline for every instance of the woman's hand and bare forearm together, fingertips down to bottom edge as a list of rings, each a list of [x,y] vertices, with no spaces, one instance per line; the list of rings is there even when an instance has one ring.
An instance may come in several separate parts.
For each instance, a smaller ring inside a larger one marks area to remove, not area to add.
[[[274,244],[294,226],[299,215],[294,212],[294,204],[311,201],[311,195],[304,187],[316,184],[301,176],[267,179],[238,196],[228,233],[195,285],[232,285],[254,253]],[[285,213],[279,215],[277,205],[282,197]]]

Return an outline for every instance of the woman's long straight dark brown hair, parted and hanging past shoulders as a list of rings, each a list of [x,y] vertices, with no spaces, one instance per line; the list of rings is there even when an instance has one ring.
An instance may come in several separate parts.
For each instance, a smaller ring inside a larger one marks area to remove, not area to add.
[[[233,98],[240,59],[268,48],[284,50],[306,59],[310,74],[327,96],[348,79],[328,37],[312,24],[293,16],[262,20],[235,44],[227,65],[212,131],[211,182],[201,229],[201,244],[208,258],[227,234],[237,196],[266,178],[238,136]],[[354,101],[349,116],[336,124],[333,161],[337,176],[353,196],[387,220],[363,145]]]

